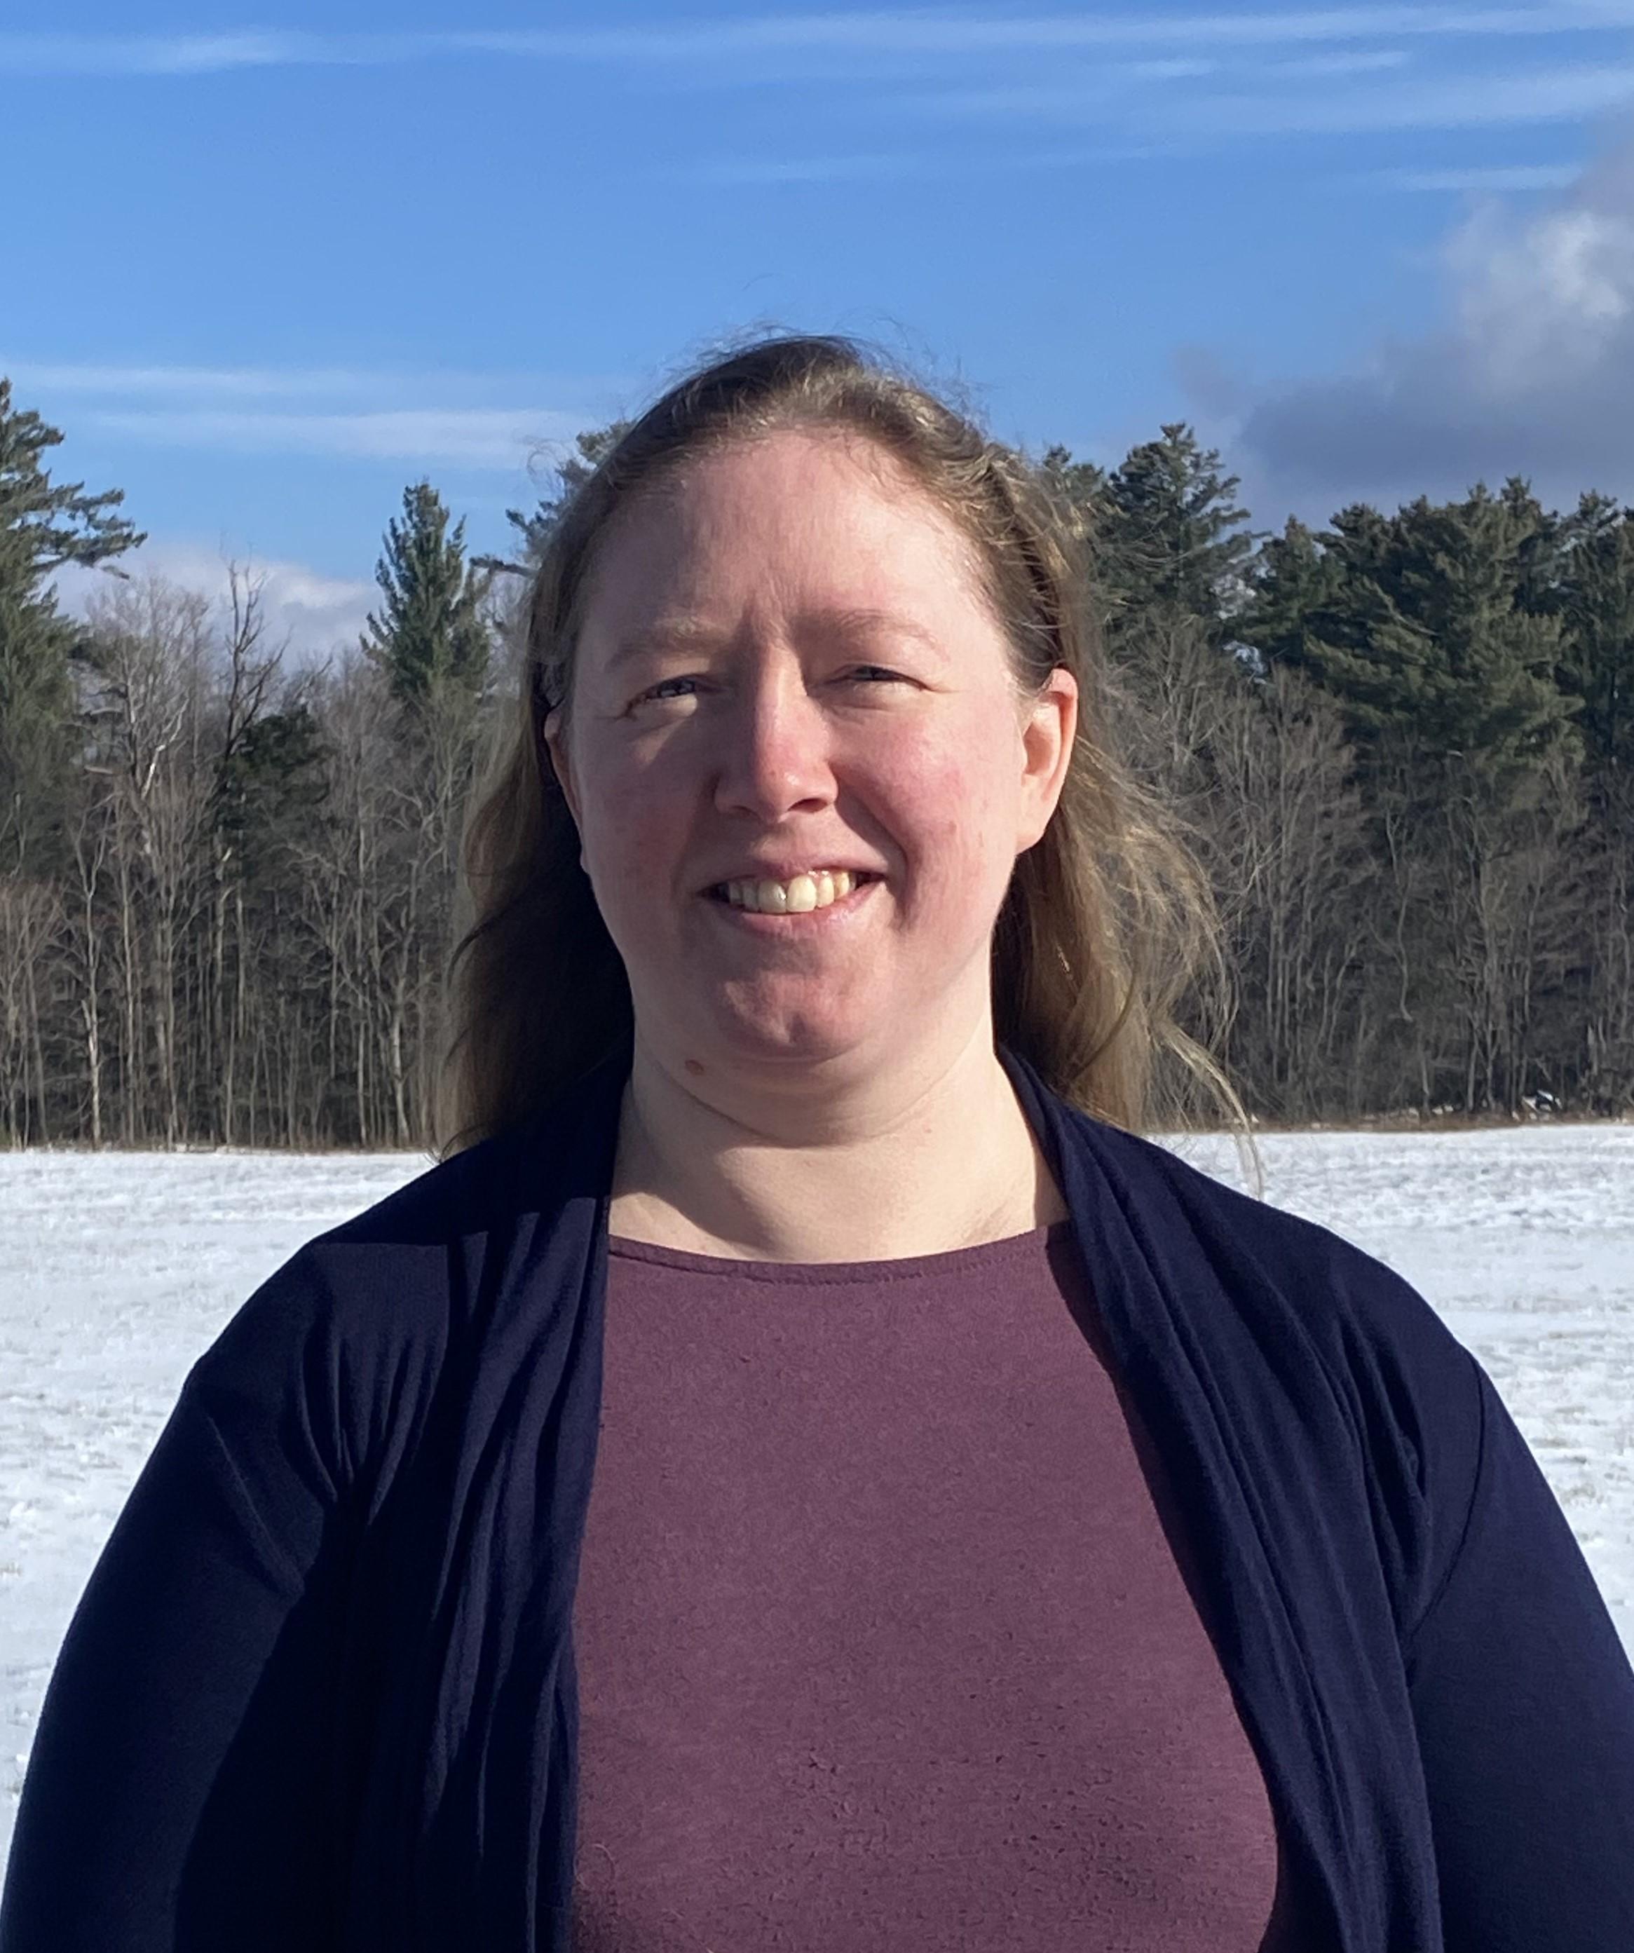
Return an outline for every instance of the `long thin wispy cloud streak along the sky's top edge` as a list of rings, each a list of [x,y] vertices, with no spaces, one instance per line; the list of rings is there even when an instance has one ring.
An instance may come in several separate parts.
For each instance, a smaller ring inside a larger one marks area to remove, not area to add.
[[[201,76],[267,66],[387,66],[449,57],[578,62],[716,62],[757,55],[1052,55],[1109,47],[1283,47],[1378,37],[1605,33],[1634,25],[1634,0],[1562,6],[1339,6],[1189,16],[859,10],[699,18],[603,29],[414,33],[6,33],[0,72]],[[732,76],[722,74],[722,80]]]

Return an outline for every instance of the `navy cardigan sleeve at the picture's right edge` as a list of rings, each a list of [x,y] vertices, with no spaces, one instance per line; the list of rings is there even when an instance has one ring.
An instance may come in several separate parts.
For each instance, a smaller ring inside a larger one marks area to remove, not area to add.
[[[1548,1480],[1468,1361],[1470,1504],[1404,1642],[1445,1953],[1626,1953],[1634,1670]]]

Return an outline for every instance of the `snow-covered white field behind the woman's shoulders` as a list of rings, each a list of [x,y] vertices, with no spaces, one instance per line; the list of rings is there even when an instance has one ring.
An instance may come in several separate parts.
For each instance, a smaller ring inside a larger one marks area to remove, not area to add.
[[[1187,1158],[1240,1184],[1228,1144]],[[1634,1652],[1634,1125],[1271,1135],[1279,1207],[1390,1262],[1486,1365]],[[404,1154],[0,1154],[0,1863],[47,1676],[193,1359]]]

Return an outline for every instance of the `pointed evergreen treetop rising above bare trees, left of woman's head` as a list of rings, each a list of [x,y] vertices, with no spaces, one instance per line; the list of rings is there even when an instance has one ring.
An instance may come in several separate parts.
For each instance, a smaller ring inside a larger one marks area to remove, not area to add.
[[[428,480],[404,488],[402,521],[387,525],[375,582],[387,602],[379,615],[369,613],[363,650],[385,672],[392,697],[410,709],[449,686],[474,697],[488,672],[488,574],[465,561],[465,519],[449,529],[449,512]]]

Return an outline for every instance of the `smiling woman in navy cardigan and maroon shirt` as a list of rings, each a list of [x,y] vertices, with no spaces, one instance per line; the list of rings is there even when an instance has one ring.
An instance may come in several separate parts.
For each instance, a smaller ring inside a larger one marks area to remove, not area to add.
[[[1224,1082],[1080,586],[841,340],[586,482],[451,1158],[189,1373],[4,1953],[1634,1943],[1634,1674],[1491,1383],[1134,1137]]]

